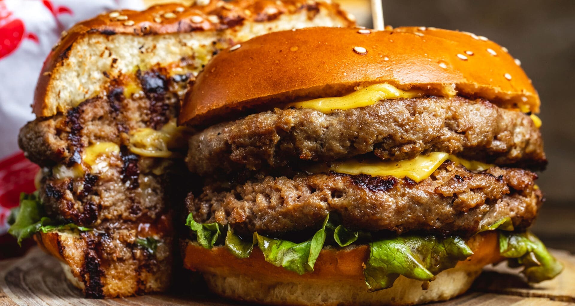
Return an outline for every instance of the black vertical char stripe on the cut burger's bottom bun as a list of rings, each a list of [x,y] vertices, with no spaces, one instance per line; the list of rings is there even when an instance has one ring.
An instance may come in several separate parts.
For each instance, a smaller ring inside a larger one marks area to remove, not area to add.
[[[81,269],[86,297],[91,299],[104,299],[104,292],[102,290],[104,285],[101,280],[104,276],[104,270],[101,268],[98,256],[98,249],[101,248],[101,243],[89,233],[82,233],[81,235],[86,242],[84,263]]]

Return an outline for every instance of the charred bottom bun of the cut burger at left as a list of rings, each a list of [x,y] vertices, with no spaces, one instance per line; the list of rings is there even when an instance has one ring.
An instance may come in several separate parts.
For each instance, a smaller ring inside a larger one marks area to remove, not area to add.
[[[91,233],[39,232],[34,240],[61,262],[68,281],[82,289],[86,297],[127,297],[162,292],[170,285],[171,238],[164,238],[162,250],[152,258],[143,254],[134,243],[115,241],[118,254],[126,251],[133,254],[128,259],[117,260],[101,254],[103,244],[109,241]]]

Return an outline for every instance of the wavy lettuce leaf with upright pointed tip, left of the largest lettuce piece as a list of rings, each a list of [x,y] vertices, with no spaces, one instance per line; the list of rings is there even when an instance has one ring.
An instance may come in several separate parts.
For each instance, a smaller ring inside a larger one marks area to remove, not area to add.
[[[316,264],[317,257],[325,242],[325,227],[328,223],[329,215],[325,218],[323,226],[311,239],[301,243],[295,243],[287,240],[272,239],[254,234],[254,240],[257,240],[259,249],[262,250],[263,256],[267,262],[274,266],[282,266],[286,270],[304,274],[312,272]]]

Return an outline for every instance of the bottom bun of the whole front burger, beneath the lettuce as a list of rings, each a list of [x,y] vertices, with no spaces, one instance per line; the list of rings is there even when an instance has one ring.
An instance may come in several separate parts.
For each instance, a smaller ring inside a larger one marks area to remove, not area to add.
[[[238,259],[225,247],[208,250],[191,242],[184,246],[184,266],[201,272],[214,292],[236,300],[288,305],[409,305],[460,295],[483,266],[500,261],[496,233],[478,234],[468,243],[474,254],[439,273],[425,291],[421,281],[401,276],[392,288],[369,293],[362,268],[369,256],[365,245],[324,248],[314,271],[301,276],[264,261],[258,248],[249,258]]]

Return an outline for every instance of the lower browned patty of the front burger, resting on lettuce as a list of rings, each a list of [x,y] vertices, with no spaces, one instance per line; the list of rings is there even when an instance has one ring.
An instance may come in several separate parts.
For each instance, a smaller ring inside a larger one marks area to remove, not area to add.
[[[451,161],[420,183],[341,173],[258,175],[231,188],[207,184],[201,195],[190,193],[187,206],[198,222],[247,235],[281,237],[318,226],[329,212],[352,230],[469,235],[507,216],[517,229],[530,226],[542,204],[536,177],[498,167],[473,173]]]

